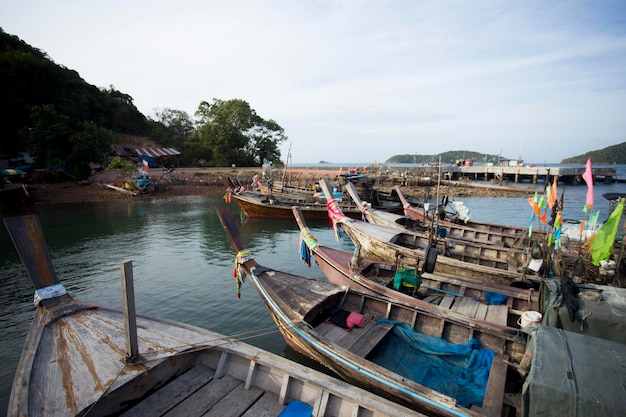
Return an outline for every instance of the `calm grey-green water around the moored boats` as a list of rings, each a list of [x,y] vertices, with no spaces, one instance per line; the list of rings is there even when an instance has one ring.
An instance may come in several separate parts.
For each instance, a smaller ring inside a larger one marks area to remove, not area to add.
[[[559,194],[563,190],[565,217],[584,218],[586,187],[560,186]],[[606,192],[626,193],[626,184],[596,186],[600,219],[606,218],[608,203],[601,197]],[[519,226],[527,226],[530,218],[526,199],[457,198],[475,220]],[[41,205],[33,212],[40,217],[57,275],[72,296],[121,309],[120,263],[132,260],[138,313],[183,321],[285,355],[285,342],[254,287],[246,282],[241,299],[235,297],[235,254],[215,213],[224,204],[221,198],[184,197]],[[237,206],[231,206],[239,216]],[[327,222],[309,226],[321,243],[353,250],[350,241],[335,241]],[[244,219],[241,232],[260,264],[324,279],[319,268],[299,259],[295,220]],[[0,285],[0,410],[6,410],[35,307],[33,286],[4,225]]]

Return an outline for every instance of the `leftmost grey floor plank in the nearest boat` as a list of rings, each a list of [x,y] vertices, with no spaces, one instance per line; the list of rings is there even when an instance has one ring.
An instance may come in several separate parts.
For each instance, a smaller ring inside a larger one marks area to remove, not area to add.
[[[134,417],[160,416],[193,394],[213,378],[212,369],[196,365],[124,414]]]

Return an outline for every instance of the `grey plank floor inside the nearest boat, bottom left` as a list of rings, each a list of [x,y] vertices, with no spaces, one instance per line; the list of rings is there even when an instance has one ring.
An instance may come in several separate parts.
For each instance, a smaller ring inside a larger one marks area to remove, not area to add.
[[[230,375],[214,378],[214,370],[195,365],[154,392],[124,416],[277,416],[285,409],[278,395],[258,387],[246,389]]]

